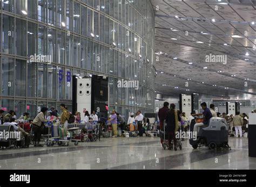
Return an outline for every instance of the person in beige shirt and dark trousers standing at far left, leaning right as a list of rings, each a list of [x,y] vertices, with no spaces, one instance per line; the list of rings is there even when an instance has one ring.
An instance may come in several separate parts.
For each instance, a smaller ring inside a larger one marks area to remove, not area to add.
[[[36,118],[32,121],[32,130],[34,132],[34,147],[42,147],[40,145],[41,134],[44,130],[44,122],[46,121],[45,115],[48,111],[47,107],[42,107],[41,112],[39,112]]]

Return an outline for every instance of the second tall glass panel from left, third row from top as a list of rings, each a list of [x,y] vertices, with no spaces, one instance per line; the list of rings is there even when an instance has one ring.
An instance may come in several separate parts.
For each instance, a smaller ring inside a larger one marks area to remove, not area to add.
[[[15,95],[26,96],[26,61],[16,59],[15,65]]]

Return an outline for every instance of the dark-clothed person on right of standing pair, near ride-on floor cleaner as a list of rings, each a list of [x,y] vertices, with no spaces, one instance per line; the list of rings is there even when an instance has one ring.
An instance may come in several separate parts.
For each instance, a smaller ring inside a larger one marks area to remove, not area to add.
[[[172,149],[171,143],[172,140],[174,142],[174,150],[177,150],[177,139],[176,139],[176,131],[179,128],[179,121],[181,121],[181,117],[178,114],[177,110],[175,110],[175,104],[170,105],[170,110],[166,113],[166,130],[168,133],[168,141],[169,141],[169,150]]]

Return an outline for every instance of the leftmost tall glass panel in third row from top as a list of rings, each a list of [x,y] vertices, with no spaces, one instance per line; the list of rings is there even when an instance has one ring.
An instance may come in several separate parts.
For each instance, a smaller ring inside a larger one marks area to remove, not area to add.
[[[14,95],[14,59],[3,57],[2,60],[2,95]]]

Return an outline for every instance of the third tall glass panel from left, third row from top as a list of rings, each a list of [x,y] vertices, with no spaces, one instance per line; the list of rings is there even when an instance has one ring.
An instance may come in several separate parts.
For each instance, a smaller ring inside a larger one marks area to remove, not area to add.
[[[36,87],[36,63],[28,62],[28,97],[37,97],[37,87]]]

